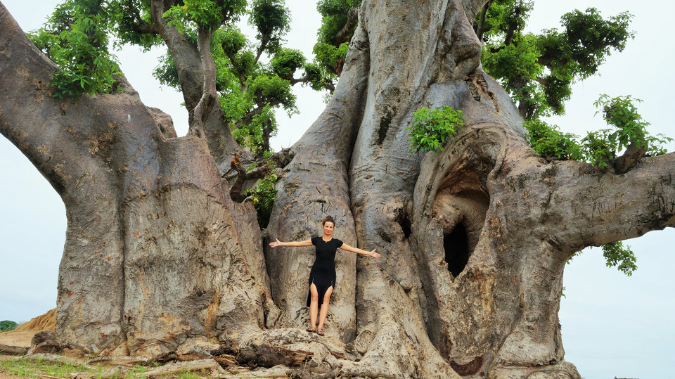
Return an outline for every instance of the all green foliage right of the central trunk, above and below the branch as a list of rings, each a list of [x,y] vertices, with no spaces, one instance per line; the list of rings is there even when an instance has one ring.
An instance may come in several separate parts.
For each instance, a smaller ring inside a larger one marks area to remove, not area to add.
[[[581,160],[604,167],[627,146],[648,147],[647,155],[666,153],[662,143],[672,141],[662,134],[650,136],[629,96],[602,95],[594,103],[610,125],[580,138],[549,125],[543,117],[565,113],[565,101],[572,84],[598,72],[612,51],[622,51],[634,38],[629,30],[633,17],[628,12],[603,18],[596,8],[565,13],[562,30],[525,33],[525,24],[534,2],[489,0],[477,15],[474,29],[484,42],[482,65],[518,102],[525,118],[533,150],[549,160]],[[597,113],[596,113],[597,114]],[[631,275],[635,256],[620,242],[603,245],[608,266]]]

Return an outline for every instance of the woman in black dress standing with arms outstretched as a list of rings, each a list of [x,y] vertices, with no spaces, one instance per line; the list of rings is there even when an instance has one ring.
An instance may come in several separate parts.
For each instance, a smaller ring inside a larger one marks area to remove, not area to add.
[[[309,272],[309,294],[307,295],[307,307],[309,307],[309,322],[310,326],[308,332],[314,332],[318,335],[323,335],[323,323],[328,316],[328,303],[330,302],[330,295],[333,294],[335,288],[335,252],[338,248],[356,254],[368,255],[369,257],[380,258],[380,255],[373,251],[361,250],[359,248],[352,248],[352,246],[342,243],[341,240],[333,238],[333,229],[335,229],[335,220],[333,217],[326,217],[321,221],[323,224],[323,236],[314,237],[309,240],[281,242],[276,240],[269,243],[272,248],[277,246],[311,246],[316,248],[316,258],[314,264],[311,266]],[[319,304],[321,298],[323,304]],[[316,314],[321,308],[319,314],[319,326],[316,326]]]

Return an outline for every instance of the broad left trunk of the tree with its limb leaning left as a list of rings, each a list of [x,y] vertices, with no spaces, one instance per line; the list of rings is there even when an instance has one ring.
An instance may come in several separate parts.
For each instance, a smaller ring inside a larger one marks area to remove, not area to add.
[[[124,79],[117,94],[51,97],[56,67],[1,5],[0,40],[0,131],[67,210],[59,340],[155,355],[264,328],[276,307],[255,210],[232,203],[206,140],[171,138]]]

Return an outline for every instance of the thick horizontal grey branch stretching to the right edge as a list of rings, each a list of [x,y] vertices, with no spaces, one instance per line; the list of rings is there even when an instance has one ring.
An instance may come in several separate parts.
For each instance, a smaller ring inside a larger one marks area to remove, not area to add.
[[[510,218],[522,217],[533,234],[567,256],[675,226],[675,153],[642,158],[620,175],[583,162],[541,165],[535,159],[523,160],[511,172],[531,179],[520,190],[528,200]],[[558,233],[551,235],[552,228]]]

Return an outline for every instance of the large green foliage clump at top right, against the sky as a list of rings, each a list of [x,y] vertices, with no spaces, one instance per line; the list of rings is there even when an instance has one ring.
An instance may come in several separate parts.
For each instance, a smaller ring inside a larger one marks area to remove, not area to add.
[[[596,8],[561,18],[563,30],[524,33],[532,1],[496,0],[483,30],[483,67],[519,101],[523,117],[565,113],[574,82],[596,74],[612,50],[622,51],[634,37],[624,12],[602,18]],[[475,28],[480,24],[480,15]]]

